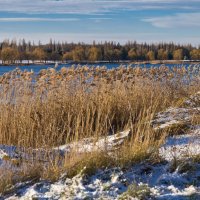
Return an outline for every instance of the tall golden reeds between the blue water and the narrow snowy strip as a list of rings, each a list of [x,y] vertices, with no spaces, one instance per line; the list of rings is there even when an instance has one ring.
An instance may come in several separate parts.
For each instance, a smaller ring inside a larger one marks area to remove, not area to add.
[[[2,84],[1,144],[38,148],[115,133],[189,93],[180,77],[170,79],[159,69],[52,71],[37,77],[34,85],[23,73]]]

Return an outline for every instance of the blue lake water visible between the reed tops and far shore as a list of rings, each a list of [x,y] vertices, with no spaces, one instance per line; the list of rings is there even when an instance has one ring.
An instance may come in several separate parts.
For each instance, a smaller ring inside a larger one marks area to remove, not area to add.
[[[72,64],[59,64],[58,65],[58,70],[60,70],[62,67],[70,67]],[[97,64],[87,64],[88,66],[106,66],[108,69],[116,68],[119,67],[121,64],[120,63],[97,63]],[[127,63],[124,65],[128,65]],[[166,66],[173,67],[173,66],[178,66],[181,67],[180,64],[165,64]],[[189,66],[191,64],[184,64],[184,66]],[[132,66],[136,66],[132,64]],[[152,65],[152,64],[140,64],[139,66],[141,67],[159,67],[160,64]],[[24,66],[0,66],[0,75],[3,75],[6,72],[14,70],[16,67],[20,68],[22,71],[28,70],[30,71],[31,69],[35,72],[38,73],[41,69],[47,69],[49,67],[54,67],[52,64],[44,64],[44,65],[24,65]]]

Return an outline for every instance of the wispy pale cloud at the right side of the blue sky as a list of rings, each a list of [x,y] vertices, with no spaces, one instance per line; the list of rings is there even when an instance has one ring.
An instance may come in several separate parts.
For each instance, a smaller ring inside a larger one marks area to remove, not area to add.
[[[142,21],[159,28],[200,27],[200,13],[178,13],[164,17],[151,17]]]

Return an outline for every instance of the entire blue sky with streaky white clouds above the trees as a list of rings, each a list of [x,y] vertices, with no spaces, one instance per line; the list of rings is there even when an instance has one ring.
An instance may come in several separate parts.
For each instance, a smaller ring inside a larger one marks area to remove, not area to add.
[[[200,44],[200,0],[0,0],[0,40]]]

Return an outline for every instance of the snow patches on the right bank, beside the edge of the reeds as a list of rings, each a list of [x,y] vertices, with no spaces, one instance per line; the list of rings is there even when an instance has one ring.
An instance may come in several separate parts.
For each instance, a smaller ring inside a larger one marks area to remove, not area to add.
[[[200,92],[193,95],[187,102],[187,108],[169,108],[158,113],[152,121],[155,129],[163,129],[175,124],[186,124],[190,127],[187,134],[168,137],[160,148],[160,156],[167,160],[184,159],[200,154],[200,124],[191,125],[194,114],[200,114],[200,107],[194,107],[199,102]]]

